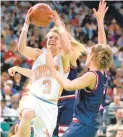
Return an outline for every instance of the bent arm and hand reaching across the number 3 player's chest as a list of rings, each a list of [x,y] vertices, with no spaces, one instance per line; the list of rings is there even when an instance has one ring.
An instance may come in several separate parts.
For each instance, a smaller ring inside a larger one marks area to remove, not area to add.
[[[96,75],[92,72],[88,72],[80,78],[70,81],[63,75],[61,75],[58,71],[55,70],[53,65],[53,56],[50,49],[46,55],[46,65],[50,70],[53,77],[63,86],[64,89],[71,91],[76,89],[83,89],[85,87],[89,87],[93,89],[93,85],[96,83]]]

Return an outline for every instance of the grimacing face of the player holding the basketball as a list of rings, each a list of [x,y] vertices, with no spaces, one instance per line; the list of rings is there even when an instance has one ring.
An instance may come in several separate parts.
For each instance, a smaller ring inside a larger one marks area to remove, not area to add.
[[[60,36],[56,32],[49,32],[47,35],[47,46],[51,46],[51,49],[60,49]]]

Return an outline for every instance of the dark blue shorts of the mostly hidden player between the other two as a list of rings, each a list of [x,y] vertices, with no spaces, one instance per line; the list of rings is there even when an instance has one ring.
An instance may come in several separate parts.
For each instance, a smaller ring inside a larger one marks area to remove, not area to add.
[[[60,125],[69,126],[72,122],[74,112],[75,98],[61,100],[58,102],[58,118],[57,126],[53,135],[58,135],[58,127]]]

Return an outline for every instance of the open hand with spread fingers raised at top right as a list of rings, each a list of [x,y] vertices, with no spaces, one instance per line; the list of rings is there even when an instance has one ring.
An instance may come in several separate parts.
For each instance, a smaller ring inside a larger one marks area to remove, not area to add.
[[[97,21],[102,21],[104,20],[105,14],[108,10],[108,7],[106,6],[105,0],[100,1],[98,10],[96,11],[95,8],[93,8],[94,16],[97,19]]]

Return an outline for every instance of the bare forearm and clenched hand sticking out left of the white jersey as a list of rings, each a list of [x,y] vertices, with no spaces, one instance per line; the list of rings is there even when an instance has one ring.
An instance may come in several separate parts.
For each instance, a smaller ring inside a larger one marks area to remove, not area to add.
[[[14,67],[8,69],[8,73],[12,77],[15,75],[16,72],[18,72],[21,75],[28,77],[30,79],[32,78],[32,70],[31,69],[21,68],[18,66],[14,66]]]

